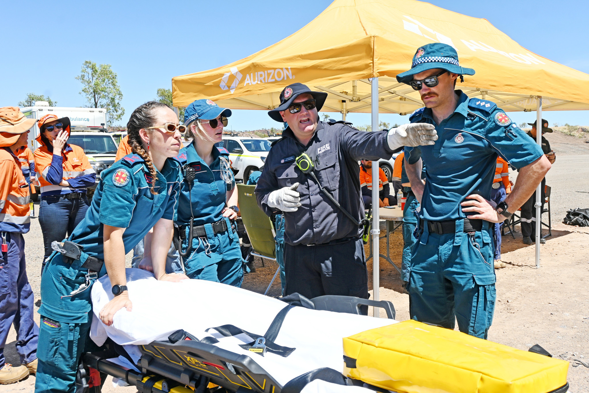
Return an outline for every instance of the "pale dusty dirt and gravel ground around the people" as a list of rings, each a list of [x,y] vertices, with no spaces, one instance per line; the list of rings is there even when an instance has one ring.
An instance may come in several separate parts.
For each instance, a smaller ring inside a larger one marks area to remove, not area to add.
[[[589,144],[560,133],[548,134],[547,138],[557,152],[557,162],[547,176],[547,184],[552,184],[552,236],[541,246],[540,269],[535,269],[535,247],[522,243],[518,226],[515,239],[509,234],[503,237],[502,260],[508,266],[496,270],[497,305],[489,340],[524,351],[540,344],[553,356],[570,362],[570,392],[589,392],[589,368],[573,361],[579,359],[589,364],[589,229],[560,223],[567,209],[589,207],[589,192],[586,192],[589,191]],[[543,235],[545,233],[544,230]],[[29,281],[38,299],[43,250],[37,219],[32,219],[31,232],[25,237]],[[400,267],[400,229],[391,235],[390,241],[391,259]],[[380,248],[381,253],[386,252],[384,239],[380,240]],[[366,253],[368,255],[368,246]],[[130,255],[127,262],[130,262]],[[243,288],[263,293],[277,265],[265,262],[263,267],[260,259],[256,259],[254,265],[257,270],[246,276]],[[399,273],[382,258],[379,268],[380,299],[393,302],[396,319],[408,319],[409,296],[402,287]],[[372,261],[368,262],[368,271],[372,294]],[[280,282],[276,279],[269,295],[279,294]],[[13,328],[4,353],[7,362],[19,365],[15,342]],[[33,392],[34,384],[35,377],[31,375],[16,384],[0,385],[0,392]],[[125,393],[136,390],[133,387],[112,388],[109,378],[102,391]]]

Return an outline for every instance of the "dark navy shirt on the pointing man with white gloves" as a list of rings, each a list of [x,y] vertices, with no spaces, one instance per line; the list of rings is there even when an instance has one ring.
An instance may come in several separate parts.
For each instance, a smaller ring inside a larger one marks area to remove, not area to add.
[[[307,146],[286,128],[282,138],[270,148],[257,182],[256,199],[260,209],[271,216],[276,209],[268,206],[269,194],[300,183],[297,192],[302,206],[296,212],[284,212],[284,240],[290,245],[322,244],[362,234],[362,227],[352,223],[322,194],[315,180],[302,173],[294,163],[294,158],[306,152],[313,159],[315,174],[322,186],[359,222],[364,205],[358,160],[388,160],[393,151],[386,139],[388,131],[367,133],[348,124],[319,121]]]

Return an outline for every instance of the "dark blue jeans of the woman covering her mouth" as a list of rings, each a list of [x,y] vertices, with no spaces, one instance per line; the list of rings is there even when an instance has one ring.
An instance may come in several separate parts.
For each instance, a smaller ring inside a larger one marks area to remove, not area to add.
[[[65,197],[44,196],[39,204],[39,224],[43,233],[45,256],[41,266],[41,274],[45,268],[45,261],[51,255],[51,242],[67,239],[74,232],[74,228],[86,216],[88,199],[84,194],[80,199],[67,199]]]

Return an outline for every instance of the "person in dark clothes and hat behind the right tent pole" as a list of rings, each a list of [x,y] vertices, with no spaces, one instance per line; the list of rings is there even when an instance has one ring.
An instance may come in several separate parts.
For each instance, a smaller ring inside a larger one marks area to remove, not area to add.
[[[528,136],[534,138],[536,140],[536,121],[534,123],[528,123],[532,126],[531,131],[528,132]],[[542,119],[542,151],[544,152],[548,161],[551,164],[554,164],[556,161],[556,154],[550,148],[550,142],[546,138],[544,138],[545,133],[551,133],[552,128],[548,128],[548,121]],[[546,187],[546,179],[542,179],[541,183],[541,201],[542,207],[540,212],[544,210],[544,199],[545,199],[545,187]],[[534,204],[536,203],[536,193],[533,193],[530,199],[528,199],[521,207],[521,235],[524,237],[522,242],[524,245],[531,245],[532,243],[536,242],[536,208]],[[542,220],[540,219],[540,222]],[[544,237],[540,237],[540,243],[546,243]]]

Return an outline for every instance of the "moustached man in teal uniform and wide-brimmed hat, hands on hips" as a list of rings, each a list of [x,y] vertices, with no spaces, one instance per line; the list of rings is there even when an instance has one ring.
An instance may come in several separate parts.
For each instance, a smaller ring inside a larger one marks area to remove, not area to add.
[[[454,90],[456,78],[474,75],[446,44],[417,49],[399,82],[418,90],[425,108],[411,123],[434,124],[431,146],[405,147],[405,169],[421,203],[418,242],[409,270],[409,313],[416,321],[487,338],[495,308],[492,224],[511,216],[534,192],[550,162],[534,140],[491,101]],[[491,199],[497,155],[519,169],[504,203]],[[422,160],[428,166],[425,185]]]

